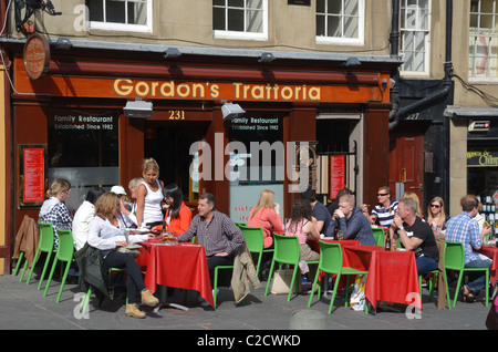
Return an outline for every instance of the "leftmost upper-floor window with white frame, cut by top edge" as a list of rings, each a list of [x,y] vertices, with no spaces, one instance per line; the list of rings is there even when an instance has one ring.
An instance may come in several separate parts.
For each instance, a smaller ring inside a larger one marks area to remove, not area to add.
[[[153,0],[85,0],[90,29],[152,32]]]

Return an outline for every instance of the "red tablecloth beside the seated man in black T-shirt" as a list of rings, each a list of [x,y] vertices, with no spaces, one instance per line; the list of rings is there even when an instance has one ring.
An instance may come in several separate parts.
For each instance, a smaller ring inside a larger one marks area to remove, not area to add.
[[[412,251],[385,251],[377,246],[345,246],[343,266],[369,270],[365,297],[376,309],[377,301],[412,304],[422,310],[415,255]]]

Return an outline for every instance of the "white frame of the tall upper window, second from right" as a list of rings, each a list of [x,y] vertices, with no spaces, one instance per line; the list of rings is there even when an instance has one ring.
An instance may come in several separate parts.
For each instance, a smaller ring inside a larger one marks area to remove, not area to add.
[[[404,23],[408,23],[408,17],[407,11],[403,11],[403,8],[405,7],[405,3],[407,0],[402,0],[402,7],[400,11],[400,15],[404,15]],[[417,1],[418,2],[418,1]],[[400,28],[400,55],[402,60],[404,60],[405,53],[403,51],[403,33],[404,32],[424,32],[425,33],[425,40],[424,40],[424,48],[425,48],[425,55],[424,55],[424,71],[408,71],[404,69],[404,64],[400,68],[400,73],[402,75],[409,75],[409,76],[428,76],[430,74],[430,30],[432,30],[432,0],[427,1],[427,29],[422,28]],[[416,18],[415,23],[422,23],[419,20],[421,11],[416,10]]]

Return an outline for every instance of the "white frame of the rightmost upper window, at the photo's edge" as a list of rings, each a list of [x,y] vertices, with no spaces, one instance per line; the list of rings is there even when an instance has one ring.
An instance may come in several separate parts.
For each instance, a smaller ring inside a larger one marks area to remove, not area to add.
[[[497,83],[498,82],[498,68],[495,69],[495,76],[491,75],[487,75],[489,74],[489,61],[494,61],[495,65],[498,65],[498,55],[495,54],[492,55],[492,53],[490,54],[489,51],[491,51],[490,46],[494,45],[492,42],[495,42],[495,45],[498,43],[498,28],[495,27],[496,21],[498,21],[498,1],[497,0],[487,0],[487,1],[492,1],[492,12],[481,12],[481,6],[483,6],[483,0],[478,0],[478,10],[477,12],[471,12],[471,3],[470,3],[470,9],[469,9],[469,17],[470,17],[470,25],[471,25],[471,15],[473,14],[478,14],[478,27],[477,28],[473,28],[469,25],[469,30],[468,30],[468,39],[469,39],[469,51],[468,51],[468,80],[469,82],[492,82],[492,83]],[[486,15],[491,15],[492,20],[492,27],[491,28],[481,28],[480,27],[480,20],[481,20],[481,15],[486,14]],[[495,18],[497,20],[495,20]],[[483,29],[486,29],[487,31],[483,31]],[[479,33],[480,32],[480,33]],[[475,38],[475,39],[473,39]],[[479,55],[477,53],[478,49],[478,41],[480,42],[480,39],[484,39],[485,41],[488,39],[489,43],[491,43],[489,46],[487,46],[485,50],[488,51],[488,53],[486,55]],[[470,46],[474,45],[475,50],[474,52],[476,54],[473,54],[470,52]],[[474,60],[473,60],[474,58]],[[485,60],[485,70],[486,70],[486,74],[485,75],[475,75],[475,69],[476,69],[476,63],[475,60],[478,59],[486,59]]]

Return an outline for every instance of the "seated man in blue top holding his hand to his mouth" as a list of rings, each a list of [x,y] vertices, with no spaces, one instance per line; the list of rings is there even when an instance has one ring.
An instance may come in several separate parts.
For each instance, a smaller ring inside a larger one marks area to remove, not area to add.
[[[362,246],[375,246],[372,227],[360,207],[354,207],[354,196],[345,195],[339,198],[339,209],[334,211],[331,225],[332,234],[339,222],[344,239],[357,239]]]

